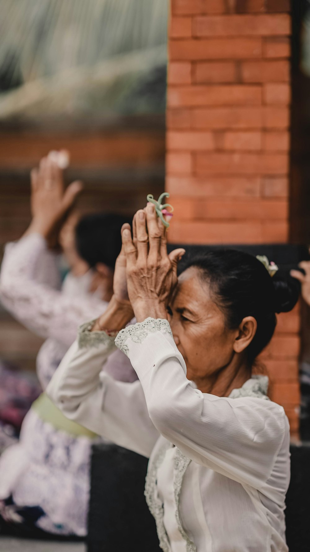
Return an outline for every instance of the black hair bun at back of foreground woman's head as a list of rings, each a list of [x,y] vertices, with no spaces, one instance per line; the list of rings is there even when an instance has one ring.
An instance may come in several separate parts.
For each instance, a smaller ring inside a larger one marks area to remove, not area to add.
[[[295,307],[300,295],[300,283],[290,274],[277,272],[272,278],[275,290],[275,312],[289,312]]]

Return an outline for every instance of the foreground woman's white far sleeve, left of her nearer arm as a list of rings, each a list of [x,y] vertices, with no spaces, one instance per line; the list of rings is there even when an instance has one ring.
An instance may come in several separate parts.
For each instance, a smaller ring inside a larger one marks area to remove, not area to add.
[[[79,329],[46,392],[70,418],[100,436],[149,457],[159,433],[149,418],[140,381],[116,381],[101,371],[115,350],[114,338]]]

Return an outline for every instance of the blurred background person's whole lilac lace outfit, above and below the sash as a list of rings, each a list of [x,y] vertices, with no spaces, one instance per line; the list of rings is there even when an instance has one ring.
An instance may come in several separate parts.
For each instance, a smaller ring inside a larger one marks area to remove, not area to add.
[[[41,235],[6,246],[0,299],[17,320],[46,338],[36,359],[43,389],[76,338],[78,325],[106,308],[81,287],[75,296],[68,291],[68,286],[60,291],[57,257]],[[120,351],[110,356],[105,370],[115,379],[137,378]],[[91,447],[89,438],[59,431],[31,408],[19,441],[0,457],[0,501],[12,495],[18,506],[40,506],[46,515],[37,525],[47,532],[86,535]]]

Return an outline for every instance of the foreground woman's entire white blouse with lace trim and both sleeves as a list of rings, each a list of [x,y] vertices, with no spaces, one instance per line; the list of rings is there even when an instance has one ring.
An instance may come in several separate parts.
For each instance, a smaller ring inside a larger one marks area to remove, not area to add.
[[[100,371],[113,338],[80,328],[47,393],[68,418],[149,457],[146,500],[164,552],[280,552],[290,477],[284,409],[268,379],[226,397],[186,379],[167,320],[147,319],[117,335],[140,381]]]

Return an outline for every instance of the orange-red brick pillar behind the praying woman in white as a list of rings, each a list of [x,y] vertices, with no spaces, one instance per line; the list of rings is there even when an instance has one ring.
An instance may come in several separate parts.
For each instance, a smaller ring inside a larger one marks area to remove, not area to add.
[[[171,0],[166,189],[170,241],[280,243],[288,237],[290,33],[287,0]],[[262,252],[263,253],[263,252]],[[299,311],[265,353],[292,431]]]

